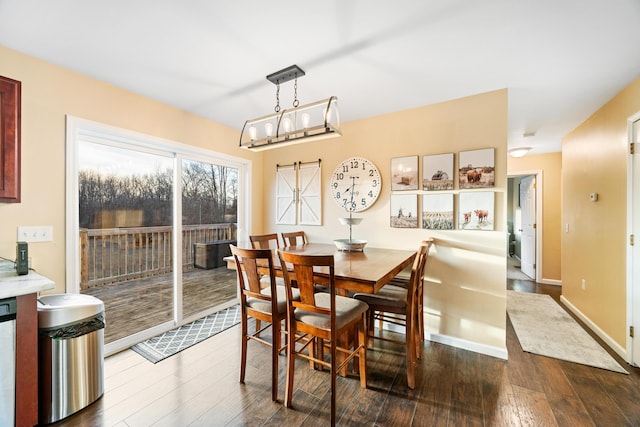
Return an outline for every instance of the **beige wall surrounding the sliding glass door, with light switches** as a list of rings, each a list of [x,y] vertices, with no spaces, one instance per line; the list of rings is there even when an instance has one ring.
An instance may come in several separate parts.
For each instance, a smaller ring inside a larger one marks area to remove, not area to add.
[[[0,204],[0,256],[15,258],[19,225],[52,225],[53,241],[29,245],[32,266],[65,288],[65,116],[141,132],[252,159],[253,188],[261,156],[238,148],[239,133],[109,84],[0,46],[0,75],[22,82],[22,202]],[[262,220],[254,192],[253,227]]]

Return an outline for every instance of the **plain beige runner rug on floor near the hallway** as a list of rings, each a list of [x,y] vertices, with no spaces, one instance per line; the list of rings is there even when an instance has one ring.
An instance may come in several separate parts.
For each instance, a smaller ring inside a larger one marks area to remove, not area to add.
[[[507,291],[507,313],[524,351],[628,374],[549,295]]]

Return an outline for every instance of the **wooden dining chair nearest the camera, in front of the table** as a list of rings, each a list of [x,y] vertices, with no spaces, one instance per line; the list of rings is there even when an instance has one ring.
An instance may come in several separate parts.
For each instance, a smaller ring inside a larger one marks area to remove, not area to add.
[[[351,360],[358,360],[360,386],[367,387],[367,304],[336,295],[333,255],[301,255],[279,250],[278,256],[283,266],[289,322],[285,406],[291,407],[292,403],[296,357],[304,358],[313,365],[328,367],[331,371],[331,425],[335,425],[336,377]],[[329,269],[329,293],[315,292],[314,267]],[[291,286],[293,274],[300,292],[299,301],[293,298],[296,289]],[[338,340],[354,330],[357,330],[357,344],[354,343],[353,348],[340,346]],[[325,342],[329,343],[328,362],[324,357]],[[316,343],[319,344],[316,346]]]

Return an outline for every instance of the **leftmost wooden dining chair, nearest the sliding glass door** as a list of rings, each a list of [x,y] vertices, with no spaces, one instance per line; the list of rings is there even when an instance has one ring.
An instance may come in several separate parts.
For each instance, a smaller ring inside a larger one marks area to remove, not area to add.
[[[283,286],[276,285],[273,253],[270,249],[240,249],[229,245],[238,275],[240,310],[242,314],[242,352],[240,359],[240,383],[244,384],[247,366],[247,345],[250,340],[271,347],[271,399],[278,399],[278,354],[282,349],[281,324],[286,320],[287,305]],[[269,287],[264,288],[264,275],[259,266],[268,266]],[[291,290],[292,299],[299,299],[297,289]],[[256,331],[248,332],[249,317],[256,320]],[[260,322],[266,322],[260,327]],[[260,335],[271,327],[271,342]],[[285,322],[286,331],[286,322]]]

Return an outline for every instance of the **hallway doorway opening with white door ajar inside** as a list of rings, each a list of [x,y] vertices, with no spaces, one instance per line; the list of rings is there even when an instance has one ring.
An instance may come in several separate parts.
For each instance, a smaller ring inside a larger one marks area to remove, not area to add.
[[[542,171],[508,177],[507,278],[539,281],[541,277]]]

